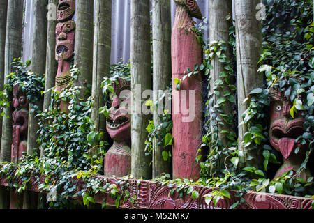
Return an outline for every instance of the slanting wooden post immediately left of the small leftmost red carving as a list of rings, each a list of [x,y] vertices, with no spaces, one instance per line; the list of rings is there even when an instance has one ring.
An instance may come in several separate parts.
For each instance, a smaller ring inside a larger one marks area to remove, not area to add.
[[[4,84],[8,84],[7,75],[12,70],[11,63],[13,59],[19,58],[22,52],[22,23],[23,23],[23,1],[9,0],[8,14],[6,20],[6,45],[5,45],[5,66],[4,66]],[[7,89],[8,100],[12,101],[12,93]],[[11,145],[12,145],[12,103],[9,107],[3,109],[2,135],[1,135],[1,151],[0,162],[10,162]],[[10,193],[6,189],[0,191],[0,208],[9,208]]]

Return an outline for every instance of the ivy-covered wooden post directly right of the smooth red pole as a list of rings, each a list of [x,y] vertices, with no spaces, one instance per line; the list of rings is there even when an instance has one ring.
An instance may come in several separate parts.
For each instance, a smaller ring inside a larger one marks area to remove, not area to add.
[[[225,54],[227,56],[226,59],[230,60],[230,56],[232,53],[232,49],[230,49],[229,42],[229,28],[232,25],[231,20],[227,20],[227,15],[232,15],[232,1],[230,0],[210,0],[209,1],[209,40],[210,42],[218,42],[219,40],[225,41]],[[219,61],[220,59],[218,56],[214,56],[214,58],[211,60],[211,65],[213,66],[213,69],[211,70],[211,80],[210,80],[210,86],[211,86],[211,93],[213,93],[213,99],[214,99],[214,105],[217,104],[218,98],[223,96],[225,94],[225,91],[228,89],[228,84],[226,82],[221,85],[220,88],[217,88],[217,86],[214,84],[217,79],[221,79],[220,75],[222,72],[225,71],[225,64],[221,63]],[[227,77],[229,79],[229,83],[232,84],[233,78]],[[214,91],[219,91],[219,95],[214,94]],[[214,109],[214,108],[211,108]],[[220,107],[220,109],[223,109],[224,113],[226,115],[230,115],[233,113],[233,107],[232,103],[229,100],[226,100],[223,107]],[[216,111],[215,111],[216,112]],[[223,148],[227,147],[227,134],[221,133],[222,130],[227,130],[228,132],[232,131],[232,125],[228,125],[225,121],[223,121],[223,116],[218,115],[218,118],[220,121],[224,123],[224,125],[216,125],[217,126],[217,134],[218,139],[221,140]],[[214,122],[218,123],[217,118],[211,117],[211,128],[214,128]],[[216,167],[213,167],[214,169],[220,169],[220,167],[224,167],[224,159],[225,157],[221,157],[220,160],[218,160],[218,164]]]

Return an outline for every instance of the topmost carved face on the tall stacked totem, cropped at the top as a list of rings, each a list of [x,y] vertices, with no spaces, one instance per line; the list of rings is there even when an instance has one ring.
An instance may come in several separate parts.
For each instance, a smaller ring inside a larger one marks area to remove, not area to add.
[[[75,0],[59,0],[57,8],[57,21],[70,20],[75,13]]]

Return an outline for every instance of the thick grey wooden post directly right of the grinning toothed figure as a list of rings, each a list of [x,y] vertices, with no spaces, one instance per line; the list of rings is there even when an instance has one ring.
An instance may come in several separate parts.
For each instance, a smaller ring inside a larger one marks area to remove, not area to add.
[[[151,157],[144,152],[150,115],[142,114],[142,92],[151,89],[149,0],[131,0],[132,175],[151,178]]]

